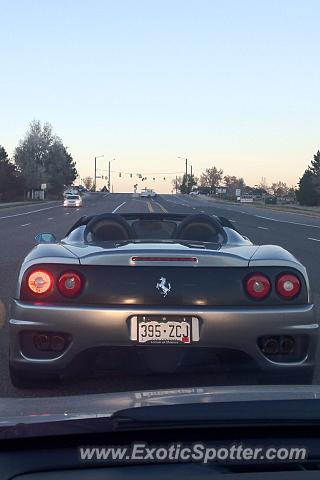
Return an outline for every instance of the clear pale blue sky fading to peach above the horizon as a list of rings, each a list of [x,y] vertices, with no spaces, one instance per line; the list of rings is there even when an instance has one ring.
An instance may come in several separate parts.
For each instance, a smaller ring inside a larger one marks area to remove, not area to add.
[[[178,157],[196,176],[215,165],[249,185],[295,185],[320,149],[318,0],[0,0],[0,11],[10,156],[33,119],[48,121],[80,178],[104,155],[98,174],[115,159],[115,191],[141,173],[139,188],[165,193]]]

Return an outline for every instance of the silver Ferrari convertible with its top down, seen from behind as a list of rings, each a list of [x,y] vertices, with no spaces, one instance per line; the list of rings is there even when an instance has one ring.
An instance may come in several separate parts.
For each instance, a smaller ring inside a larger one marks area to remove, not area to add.
[[[318,337],[306,269],[205,214],[82,217],[39,234],[11,308],[10,374],[257,370],[310,381]]]

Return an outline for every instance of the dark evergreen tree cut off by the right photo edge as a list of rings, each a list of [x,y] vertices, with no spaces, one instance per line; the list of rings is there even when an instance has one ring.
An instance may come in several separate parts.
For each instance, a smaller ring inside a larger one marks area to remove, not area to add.
[[[313,156],[311,165],[299,180],[296,192],[301,205],[320,205],[320,151]]]

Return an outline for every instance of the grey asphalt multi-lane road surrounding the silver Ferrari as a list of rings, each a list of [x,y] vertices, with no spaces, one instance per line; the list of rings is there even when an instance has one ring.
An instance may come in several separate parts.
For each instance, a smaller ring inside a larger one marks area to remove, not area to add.
[[[53,389],[18,390],[8,376],[8,309],[14,295],[19,265],[34,246],[39,232],[52,232],[62,238],[82,215],[103,212],[204,212],[227,217],[254,243],[277,244],[292,252],[308,269],[314,301],[320,307],[320,219],[243,204],[223,204],[208,199],[161,195],[156,199],[133,198],[131,194],[88,194],[83,207],[65,209],[61,202],[0,209],[0,397],[71,395],[121,390],[143,390],[223,384],[225,378],[212,374],[159,375],[150,377],[113,376],[104,379],[66,380]],[[319,369],[320,370],[320,369]],[[251,383],[252,378],[237,377],[233,384]],[[320,383],[316,371],[314,383]]]

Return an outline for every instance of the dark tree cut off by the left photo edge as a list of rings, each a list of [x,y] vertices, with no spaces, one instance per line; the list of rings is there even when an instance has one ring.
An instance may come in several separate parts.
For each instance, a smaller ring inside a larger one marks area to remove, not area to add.
[[[6,150],[0,145],[0,201],[23,197],[24,179],[16,165],[10,162]]]

